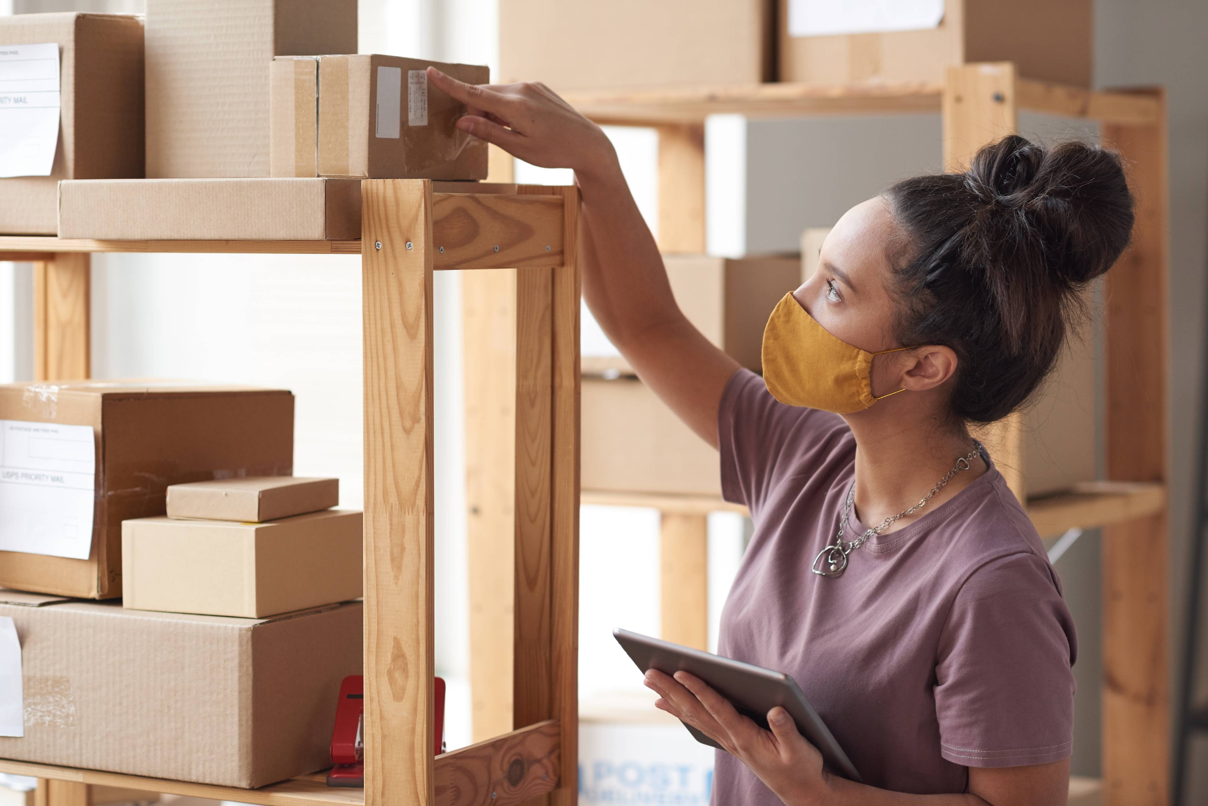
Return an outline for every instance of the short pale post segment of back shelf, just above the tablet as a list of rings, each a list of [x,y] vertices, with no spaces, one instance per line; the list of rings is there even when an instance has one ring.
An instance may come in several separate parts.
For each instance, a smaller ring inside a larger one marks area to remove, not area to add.
[[[709,648],[709,518],[662,512],[660,523],[662,638]]]

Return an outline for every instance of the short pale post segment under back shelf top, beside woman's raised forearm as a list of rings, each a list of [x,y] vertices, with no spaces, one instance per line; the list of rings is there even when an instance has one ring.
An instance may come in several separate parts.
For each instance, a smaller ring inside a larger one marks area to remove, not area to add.
[[[704,124],[658,127],[658,249],[704,251]]]

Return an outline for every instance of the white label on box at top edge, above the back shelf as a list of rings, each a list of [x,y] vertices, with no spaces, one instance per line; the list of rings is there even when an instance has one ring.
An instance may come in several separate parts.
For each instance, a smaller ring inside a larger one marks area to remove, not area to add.
[[[790,36],[922,30],[941,19],[943,0],[789,0]]]

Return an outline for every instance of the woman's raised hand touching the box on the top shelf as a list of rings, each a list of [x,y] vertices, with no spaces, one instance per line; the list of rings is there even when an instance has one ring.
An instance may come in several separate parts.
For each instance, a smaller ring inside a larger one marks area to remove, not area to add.
[[[436,68],[428,80],[466,105],[463,132],[541,168],[599,175],[616,168],[616,151],[599,126],[544,83],[469,85]]]

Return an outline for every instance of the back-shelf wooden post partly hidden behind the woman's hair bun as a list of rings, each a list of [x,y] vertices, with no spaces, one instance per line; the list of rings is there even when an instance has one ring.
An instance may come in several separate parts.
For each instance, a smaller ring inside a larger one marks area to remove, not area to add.
[[[943,169],[964,170],[987,143],[1018,131],[1011,63],[965,64],[948,68],[941,104],[943,115]],[[977,429],[998,470],[1021,503],[1027,503],[1023,476],[1023,417],[1009,414]]]

